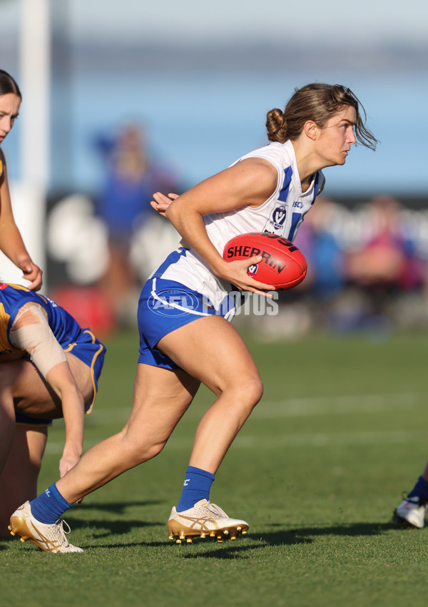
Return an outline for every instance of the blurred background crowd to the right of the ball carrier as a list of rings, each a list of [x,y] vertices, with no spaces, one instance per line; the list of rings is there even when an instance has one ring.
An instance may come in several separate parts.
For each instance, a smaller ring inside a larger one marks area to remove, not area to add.
[[[317,329],[387,337],[428,327],[428,209],[389,194],[352,208],[321,195],[295,243],[308,270],[282,295],[283,336]]]

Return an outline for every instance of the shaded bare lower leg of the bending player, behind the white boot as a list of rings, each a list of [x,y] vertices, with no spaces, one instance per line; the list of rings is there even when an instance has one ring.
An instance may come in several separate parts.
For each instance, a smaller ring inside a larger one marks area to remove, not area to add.
[[[9,456],[0,474],[0,536],[9,535],[11,512],[37,495],[47,435],[46,427],[16,426]]]

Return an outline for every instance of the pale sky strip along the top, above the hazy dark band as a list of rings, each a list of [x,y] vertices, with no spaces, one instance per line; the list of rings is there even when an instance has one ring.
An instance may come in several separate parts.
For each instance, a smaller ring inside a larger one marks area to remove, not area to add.
[[[39,0],[33,0],[34,2]],[[73,37],[189,42],[287,39],[308,44],[418,44],[428,3],[409,0],[60,0]],[[16,28],[19,0],[0,2],[0,33]]]

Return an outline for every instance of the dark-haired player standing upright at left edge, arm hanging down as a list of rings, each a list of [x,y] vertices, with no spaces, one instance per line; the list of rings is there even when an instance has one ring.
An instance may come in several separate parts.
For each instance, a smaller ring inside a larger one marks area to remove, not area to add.
[[[0,70],[0,146],[6,135],[14,126],[21,106],[21,91],[9,73]],[[6,161],[0,148],[0,250],[14,262],[30,281],[29,288],[39,290],[41,287],[41,269],[31,260],[16,227],[11,208],[11,197],[7,182]]]

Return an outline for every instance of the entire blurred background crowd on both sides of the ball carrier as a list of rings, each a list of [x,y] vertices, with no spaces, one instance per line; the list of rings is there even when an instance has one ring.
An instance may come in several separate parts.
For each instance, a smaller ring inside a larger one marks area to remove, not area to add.
[[[126,124],[93,146],[105,175],[98,195],[66,196],[49,213],[49,282],[81,324],[107,333],[136,325],[141,285],[178,245],[168,220],[151,208],[152,194],[183,186],[151,158],[143,126]],[[428,208],[407,208],[389,194],[351,206],[321,195],[295,243],[307,258],[305,280],[280,292],[275,318],[237,319],[260,337],[317,330],[384,336],[428,326]]]

